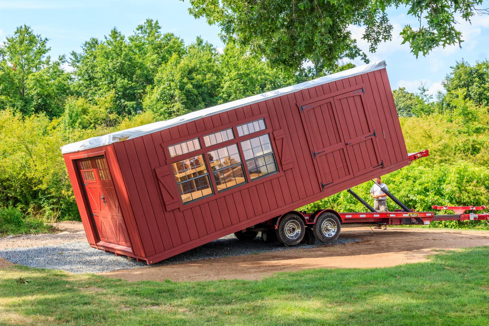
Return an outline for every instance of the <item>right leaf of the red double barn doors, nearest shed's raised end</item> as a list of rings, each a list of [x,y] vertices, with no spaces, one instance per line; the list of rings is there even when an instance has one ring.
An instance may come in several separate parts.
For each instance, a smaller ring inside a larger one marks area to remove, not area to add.
[[[382,167],[364,92],[362,87],[333,98],[354,176]]]

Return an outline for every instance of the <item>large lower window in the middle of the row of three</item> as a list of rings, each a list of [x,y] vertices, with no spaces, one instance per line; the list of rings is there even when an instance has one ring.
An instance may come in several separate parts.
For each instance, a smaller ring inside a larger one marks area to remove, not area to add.
[[[218,192],[246,182],[238,144],[208,152]]]

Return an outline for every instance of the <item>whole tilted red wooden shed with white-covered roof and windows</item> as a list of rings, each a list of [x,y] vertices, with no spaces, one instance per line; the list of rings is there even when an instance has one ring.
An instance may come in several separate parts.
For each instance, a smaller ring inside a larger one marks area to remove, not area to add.
[[[384,61],[62,152],[90,245],[148,263],[409,164]]]

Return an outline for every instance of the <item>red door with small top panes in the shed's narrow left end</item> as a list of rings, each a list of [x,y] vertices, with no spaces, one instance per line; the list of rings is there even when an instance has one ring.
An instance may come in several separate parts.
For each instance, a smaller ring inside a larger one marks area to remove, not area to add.
[[[130,247],[129,236],[104,156],[78,160],[100,241]]]

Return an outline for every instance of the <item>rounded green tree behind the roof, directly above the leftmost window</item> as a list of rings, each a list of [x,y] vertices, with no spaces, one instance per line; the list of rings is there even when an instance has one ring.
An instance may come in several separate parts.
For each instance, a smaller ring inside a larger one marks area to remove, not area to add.
[[[222,81],[217,58],[212,44],[200,37],[183,56],[174,53],[148,87],[144,108],[168,119],[216,105]]]

